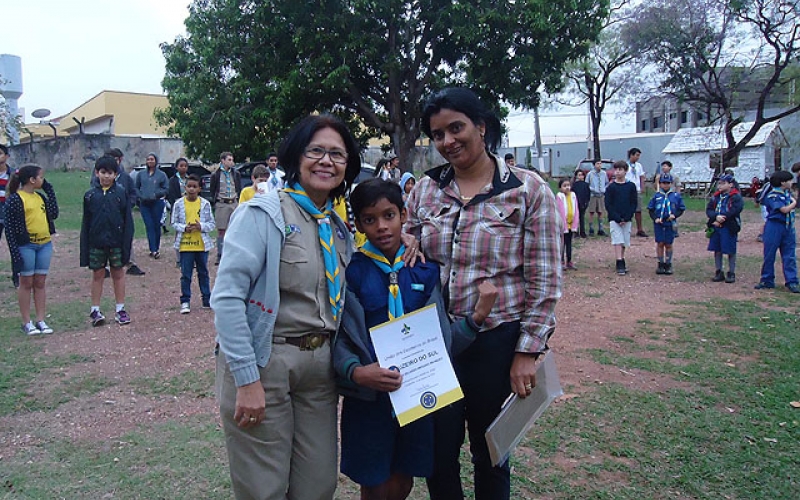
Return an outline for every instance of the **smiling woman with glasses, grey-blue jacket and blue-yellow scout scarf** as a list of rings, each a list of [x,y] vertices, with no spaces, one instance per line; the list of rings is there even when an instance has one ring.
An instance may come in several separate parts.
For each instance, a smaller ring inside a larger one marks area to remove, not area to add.
[[[286,188],[233,215],[211,297],[217,392],[236,498],[331,499],[337,483],[330,341],[353,249],[332,201],[361,169],[340,120],[310,116],[278,152]]]

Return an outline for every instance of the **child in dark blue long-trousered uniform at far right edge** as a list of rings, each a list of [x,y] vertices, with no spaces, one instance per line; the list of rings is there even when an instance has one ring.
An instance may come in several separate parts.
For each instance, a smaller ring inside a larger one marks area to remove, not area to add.
[[[779,170],[769,178],[772,191],[763,202],[767,209],[767,222],[764,225],[764,263],[761,265],[761,280],[756,285],[756,290],[775,288],[775,253],[780,250],[786,288],[792,293],[800,293],[794,230],[794,209],[797,200],[792,197],[792,180],[792,174],[786,170]]]

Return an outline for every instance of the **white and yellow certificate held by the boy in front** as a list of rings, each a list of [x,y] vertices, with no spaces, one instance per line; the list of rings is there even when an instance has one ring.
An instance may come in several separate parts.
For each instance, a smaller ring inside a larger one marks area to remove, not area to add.
[[[389,393],[401,426],[464,397],[444,344],[436,304],[370,329],[378,364],[403,375]]]

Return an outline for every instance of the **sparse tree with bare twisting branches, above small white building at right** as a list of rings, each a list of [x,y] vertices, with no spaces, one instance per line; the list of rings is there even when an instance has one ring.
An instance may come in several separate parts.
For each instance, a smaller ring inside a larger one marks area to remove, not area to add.
[[[720,123],[720,168],[735,166],[765,124],[800,110],[797,0],[657,0],[635,17],[624,38],[658,70],[662,89]],[[753,124],[737,140],[746,119]]]

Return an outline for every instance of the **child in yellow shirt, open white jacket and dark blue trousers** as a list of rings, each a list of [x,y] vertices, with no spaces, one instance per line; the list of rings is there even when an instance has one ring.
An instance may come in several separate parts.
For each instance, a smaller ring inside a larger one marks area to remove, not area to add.
[[[216,226],[211,203],[201,198],[199,194],[200,178],[190,175],[186,179],[186,195],[172,207],[172,227],[176,233],[175,248],[181,256],[181,314],[189,314],[191,311],[189,302],[192,298],[192,271],[195,267],[197,267],[197,283],[200,285],[203,308],[211,307],[208,252],[213,243],[208,233]]]

